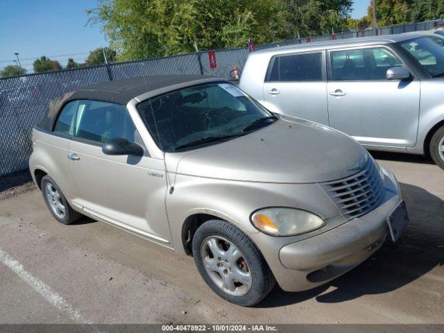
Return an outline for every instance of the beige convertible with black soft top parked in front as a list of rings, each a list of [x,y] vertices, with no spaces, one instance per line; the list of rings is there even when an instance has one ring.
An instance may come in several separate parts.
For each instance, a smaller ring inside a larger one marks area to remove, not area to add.
[[[408,222],[395,177],[359,143],[273,114],[221,78],[69,92],[33,130],[29,166],[60,223],[85,215],[193,255],[239,305],[276,281],[285,291],[328,282]]]

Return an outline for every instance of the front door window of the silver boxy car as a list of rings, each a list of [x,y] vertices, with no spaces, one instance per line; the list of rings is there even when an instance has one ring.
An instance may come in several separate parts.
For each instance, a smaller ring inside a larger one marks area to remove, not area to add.
[[[402,66],[402,62],[388,49],[359,49],[332,51],[333,80],[386,80],[387,69]]]

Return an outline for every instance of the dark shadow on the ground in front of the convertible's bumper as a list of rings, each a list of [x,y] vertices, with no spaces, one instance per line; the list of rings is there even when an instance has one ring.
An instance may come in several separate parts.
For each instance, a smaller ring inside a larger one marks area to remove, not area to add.
[[[257,307],[281,307],[316,298],[336,303],[394,291],[444,266],[444,201],[425,189],[400,183],[410,223],[397,243],[388,239],[374,255],[321,287],[287,293],[276,286]],[[331,291],[327,291],[333,287]],[[327,292],[325,292],[327,291]]]

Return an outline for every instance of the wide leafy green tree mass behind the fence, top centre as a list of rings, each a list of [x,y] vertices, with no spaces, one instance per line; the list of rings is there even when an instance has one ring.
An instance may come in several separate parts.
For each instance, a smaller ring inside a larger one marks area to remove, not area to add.
[[[341,30],[351,0],[100,0],[100,22],[119,60],[246,46]]]

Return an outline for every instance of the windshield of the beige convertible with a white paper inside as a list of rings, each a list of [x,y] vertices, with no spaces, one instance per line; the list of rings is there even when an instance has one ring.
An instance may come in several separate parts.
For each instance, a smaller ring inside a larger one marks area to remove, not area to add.
[[[175,152],[246,135],[277,119],[230,83],[210,83],[147,99],[137,110],[157,146]]]

